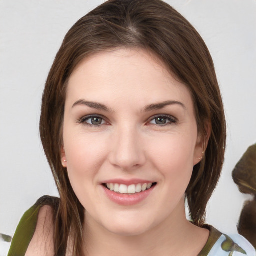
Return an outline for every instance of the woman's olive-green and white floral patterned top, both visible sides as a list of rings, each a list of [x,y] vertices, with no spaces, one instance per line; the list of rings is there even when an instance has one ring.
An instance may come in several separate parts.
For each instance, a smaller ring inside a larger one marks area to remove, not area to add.
[[[59,198],[44,195],[22,216],[13,236],[8,256],[24,256],[33,237],[39,209],[43,205],[59,203]],[[256,256],[255,248],[241,235],[226,235],[210,225],[209,238],[197,256]]]

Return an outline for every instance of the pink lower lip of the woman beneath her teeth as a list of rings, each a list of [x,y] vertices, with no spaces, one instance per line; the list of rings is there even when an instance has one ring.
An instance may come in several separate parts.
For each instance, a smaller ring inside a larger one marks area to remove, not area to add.
[[[145,191],[141,191],[141,192],[135,193],[135,194],[116,193],[114,191],[110,191],[109,189],[107,189],[103,185],[102,185],[102,187],[104,188],[106,196],[111,201],[113,201],[113,202],[115,202],[117,204],[120,204],[120,205],[128,206],[128,205],[137,204],[137,203],[145,200],[149,196],[149,194],[153,191],[155,185],[151,186],[149,189],[147,189]]]

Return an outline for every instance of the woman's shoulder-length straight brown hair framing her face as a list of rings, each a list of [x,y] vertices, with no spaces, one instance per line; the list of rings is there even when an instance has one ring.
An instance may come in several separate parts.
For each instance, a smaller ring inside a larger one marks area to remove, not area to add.
[[[84,208],[60,159],[68,78],[82,59],[116,47],[142,48],[157,56],[189,88],[198,132],[205,144],[210,129],[204,157],[194,166],[186,189],[190,216],[198,226],[204,223],[206,204],[220,176],[225,117],[214,65],[204,41],[182,15],[163,1],[109,0],[79,19],[67,32],[42,97],[40,135],[60,195],[54,223],[55,255],[64,254],[69,230],[74,255],[82,255],[83,244]]]

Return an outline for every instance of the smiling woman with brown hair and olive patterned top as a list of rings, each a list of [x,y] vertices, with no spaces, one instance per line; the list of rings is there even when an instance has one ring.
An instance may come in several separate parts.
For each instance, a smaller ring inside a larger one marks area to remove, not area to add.
[[[40,135],[60,199],[24,214],[9,255],[255,255],[204,224],[223,105],[206,45],[168,4],[111,0],[74,24],[46,81]]]

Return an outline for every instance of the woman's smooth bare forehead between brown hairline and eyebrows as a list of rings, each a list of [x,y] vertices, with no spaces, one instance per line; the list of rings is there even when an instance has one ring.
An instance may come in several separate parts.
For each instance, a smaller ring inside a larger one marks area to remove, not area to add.
[[[187,87],[159,59],[144,50],[123,48],[94,54],[77,65],[68,81],[66,100],[79,97],[104,104],[121,99],[141,106],[148,101],[191,101]]]

